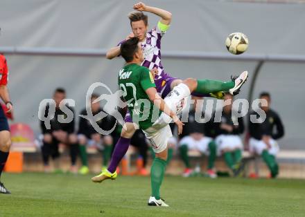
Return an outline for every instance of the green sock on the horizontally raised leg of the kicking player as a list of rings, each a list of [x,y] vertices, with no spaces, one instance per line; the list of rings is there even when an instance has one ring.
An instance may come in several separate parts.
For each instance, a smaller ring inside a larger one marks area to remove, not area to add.
[[[220,82],[216,80],[197,80],[197,88],[195,92],[197,93],[214,93],[218,91],[229,91],[229,89],[234,88],[235,82]]]

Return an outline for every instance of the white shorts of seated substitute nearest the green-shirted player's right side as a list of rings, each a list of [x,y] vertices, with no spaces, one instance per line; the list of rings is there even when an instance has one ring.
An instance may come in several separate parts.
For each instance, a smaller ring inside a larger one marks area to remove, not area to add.
[[[195,149],[200,151],[201,153],[204,153],[206,155],[209,155],[209,143],[211,142],[211,138],[204,137],[201,140],[194,140],[191,136],[187,135],[180,140],[179,144],[180,146],[182,144],[186,144],[187,147],[191,150]]]

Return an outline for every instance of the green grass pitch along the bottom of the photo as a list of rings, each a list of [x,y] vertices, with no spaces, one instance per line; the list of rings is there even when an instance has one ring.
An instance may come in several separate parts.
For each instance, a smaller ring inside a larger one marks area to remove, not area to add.
[[[304,180],[245,180],[166,176],[171,207],[148,207],[150,178],[3,174],[12,191],[0,194],[0,216],[304,216]]]

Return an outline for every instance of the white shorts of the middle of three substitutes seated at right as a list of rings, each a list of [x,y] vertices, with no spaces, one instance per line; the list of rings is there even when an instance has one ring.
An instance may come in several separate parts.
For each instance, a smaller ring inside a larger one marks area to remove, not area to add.
[[[215,139],[217,155],[220,156],[225,149],[243,149],[243,142],[238,135],[218,135]]]

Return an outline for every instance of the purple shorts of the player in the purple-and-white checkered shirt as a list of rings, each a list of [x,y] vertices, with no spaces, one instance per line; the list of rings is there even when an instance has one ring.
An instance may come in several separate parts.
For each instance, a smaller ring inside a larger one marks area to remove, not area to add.
[[[176,79],[179,78],[171,77],[170,75],[165,73],[161,78],[155,80],[157,92],[161,94],[162,99],[164,99],[166,95],[168,95],[168,93],[171,92],[171,83]],[[124,121],[132,123],[132,117],[129,113],[129,110],[125,115]]]

